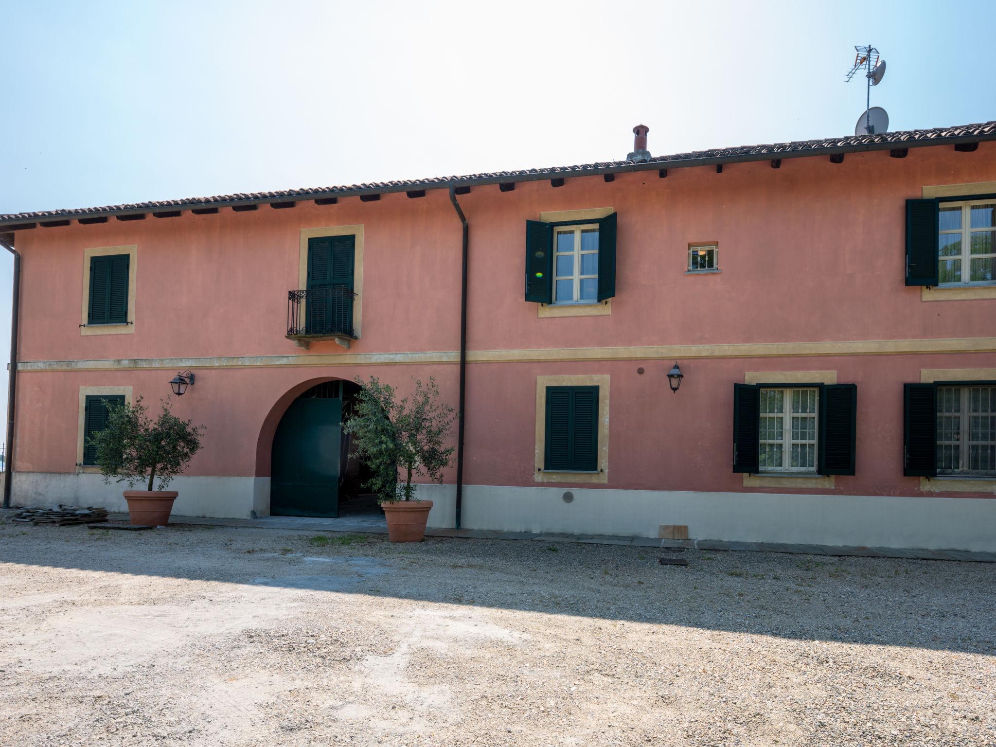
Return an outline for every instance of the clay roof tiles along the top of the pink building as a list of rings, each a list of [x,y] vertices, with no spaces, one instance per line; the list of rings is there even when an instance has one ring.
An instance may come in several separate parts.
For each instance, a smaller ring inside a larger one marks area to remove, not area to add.
[[[605,173],[612,171],[655,168],[658,166],[678,164],[692,166],[696,163],[711,164],[723,162],[724,159],[761,160],[773,153],[800,153],[800,155],[816,155],[821,150],[835,149],[876,149],[886,147],[889,143],[902,142],[908,146],[932,145],[933,141],[961,140],[993,140],[996,139],[996,121],[981,124],[962,124],[952,127],[933,127],[929,129],[910,129],[878,134],[861,134],[848,137],[828,137],[816,140],[794,140],[758,145],[740,145],[739,147],[713,148],[708,150],[693,150],[671,155],[658,155],[646,161],[634,162],[628,160],[598,161],[574,166],[550,166],[547,168],[527,168],[515,171],[496,171],[490,173],[465,174],[462,176],[439,176],[423,179],[402,179],[379,181],[349,186],[316,187],[311,189],[284,189],[270,192],[239,192],[236,194],[220,194],[212,197],[187,197],[178,200],[153,200],[135,202],[123,205],[107,205],[104,207],[85,207],[68,210],[39,210],[35,212],[0,214],[0,226],[15,223],[28,223],[46,218],[86,217],[88,215],[114,215],[118,213],[136,213],[154,208],[180,207],[190,208],[197,205],[217,205],[231,203],[265,203],[286,200],[288,197],[305,197],[316,199],[372,192],[400,191],[406,187],[444,188],[451,185],[474,182],[499,182],[520,180],[532,177],[559,173],[575,173],[579,176],[588,173]],[[757,156],[752,158],[752,156]]]

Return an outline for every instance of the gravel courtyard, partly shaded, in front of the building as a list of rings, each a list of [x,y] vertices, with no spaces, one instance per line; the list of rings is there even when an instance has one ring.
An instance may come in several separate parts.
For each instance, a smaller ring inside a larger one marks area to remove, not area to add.
[[[0,524],[0,745],[996,745],[996,566]]]

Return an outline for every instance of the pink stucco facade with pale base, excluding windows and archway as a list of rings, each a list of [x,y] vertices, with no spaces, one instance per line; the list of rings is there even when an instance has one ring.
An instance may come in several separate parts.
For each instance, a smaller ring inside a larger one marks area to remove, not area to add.
[[[903,383],[996,378],[996,292],[987,292],[996,289],[907,287],[905,200],[936,187],[996,193],[994,182],[996,142],[981,142],[972,152],[937,145],[779,168],[758,160],[460,195],[469,224],[462,526],[656,537],[677,524],[701,539],[996,550],[996,479],[903,476]],[[616,294],[552,315],[523,300],[526,221],[576,210],[618,215]],[[363,230],[359,339],[305,350],[285,337],[303,232],[343,226]],[[688,274],[689,245],[706,242],[718,247],[718,272]],[[83,387],[130,387],[155,401],[177,371],[196,373],[174,411],[206,434],[175,483],[174,510],[205,516],[268,513],[277,423],[318,381],[373,374],[403,391],[431,375],[456,402],[461,225],[443,189],[74,222],[18,231],[16,246],[17,503],[123,505],[117,487],[77,463]],[[130,334],[82,334],[84,257],[102,247],[134,248]],[[672,393],[675,362],[684,379]],[[957,375],[932,378],[938,371]],[[544,479],[540,376],[604,382],[598,480]],[[780,380],[857,385],[854,475],[732,471],[733,384]],[[436,526],[452,526],[454,479],[450,470],[424,490]]]

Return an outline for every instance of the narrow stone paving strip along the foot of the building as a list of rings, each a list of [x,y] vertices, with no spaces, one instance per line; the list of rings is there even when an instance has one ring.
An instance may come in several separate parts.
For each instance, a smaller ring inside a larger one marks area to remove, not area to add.
[[[0,516],[13,513],[0,510]],[[127,514],[109,514],[112,521],[127,521]],[[249,527],[309,532],[349,532],[356,534],[386,534],[382,516],[322,519],[297,516],[267,516],[260,519],[208,519],[195,516],[171,516],[170,524],[199,524],[219,527]],[[622,545],[628,547],[681,550],[697,548],[711,551],[795,553],[858,558],[899,558],[905,560],[944,560],[970,563],[996,563],[996,553],[968,550],[921,550],[887,547],[837,547],[799,543],[738,542],[725,540],[658,540],[652,537],[618,537],[615,535],[569,535],[556,532],[500,532],[489,529],[428,529],[427,537],[478,540],[540,540],[541,542],[574,542],[589,545]]]

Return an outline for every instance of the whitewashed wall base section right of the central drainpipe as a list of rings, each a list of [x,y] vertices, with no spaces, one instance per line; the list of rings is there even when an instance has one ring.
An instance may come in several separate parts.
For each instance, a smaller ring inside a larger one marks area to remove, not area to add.
[[[996,552],[996,498],[693,493],[469,485],[465,529]],[[434,507],[433,507],[434,510]]]

